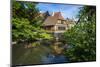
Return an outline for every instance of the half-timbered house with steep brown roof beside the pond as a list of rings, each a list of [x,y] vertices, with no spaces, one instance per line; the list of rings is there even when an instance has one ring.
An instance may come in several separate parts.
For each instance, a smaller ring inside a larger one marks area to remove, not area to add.
[[[55,12],[48,16],[43,23],[43,28],[48,32],[54,33],[56,37],[74,25],[72,20],[64,19],[61,12]]]

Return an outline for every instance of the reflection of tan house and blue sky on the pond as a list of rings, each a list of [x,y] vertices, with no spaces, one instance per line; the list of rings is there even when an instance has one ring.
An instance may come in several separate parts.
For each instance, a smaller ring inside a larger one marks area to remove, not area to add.
[[[42,64],[68,62],[68,58],[63,55],[63,50],[67,48],[67,44],[62,45],[62,42],[55,41],[52,43],[51,48],[51,52],[42,56]]]

